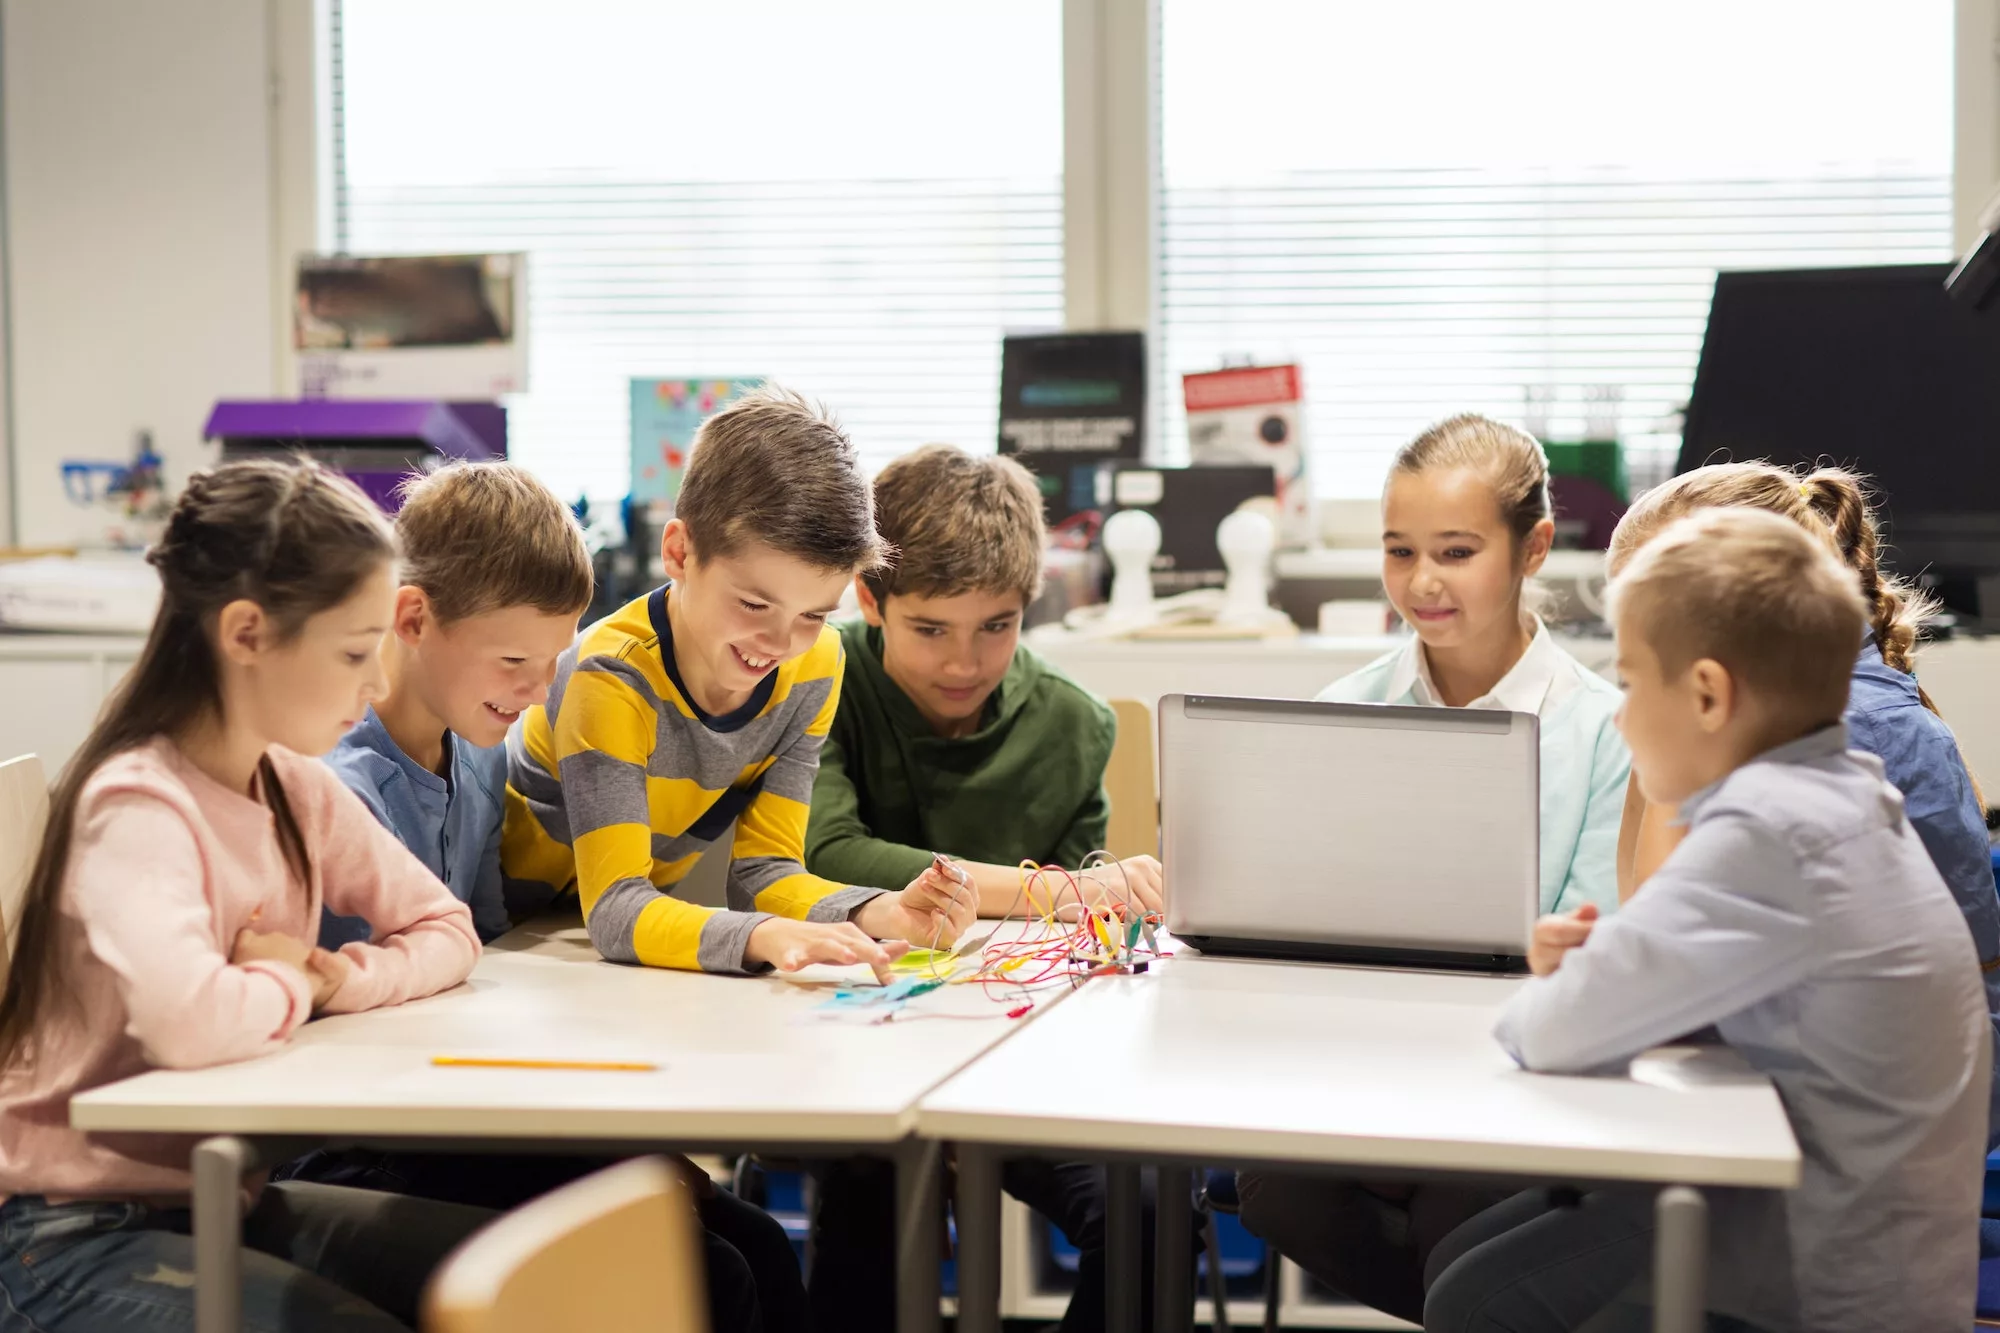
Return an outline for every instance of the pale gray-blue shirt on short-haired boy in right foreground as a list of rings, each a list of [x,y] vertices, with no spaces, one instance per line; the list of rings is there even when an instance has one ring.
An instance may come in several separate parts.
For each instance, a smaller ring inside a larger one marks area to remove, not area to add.
[[[1680,805],[1686,841],[1496,1037],[1586,1073],[1714,1025],[1802,1155],[1716,1209],[1718,1307],[1784,1329],[1964,1329],[1992,1035],[1958,905],[1872,755],[1832,725]]]

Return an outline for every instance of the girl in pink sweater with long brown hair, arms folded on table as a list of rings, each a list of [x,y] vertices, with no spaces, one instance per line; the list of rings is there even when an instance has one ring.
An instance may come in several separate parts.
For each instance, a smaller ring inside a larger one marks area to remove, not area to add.
[[[276,1051],[478,957],[466,907],[314,759],[384,689],[382,514],[314,464],[234,462],[188,482],[148,560],[152,636],[50,795],[0,995],[0,1331],[192,1319],[190,1143],[74,1131],[72,1095]],[[322,905],[372,941],[316,949]],[[488,1217],[270,1185],[244,1217],[246,1327],[412,1323]]]

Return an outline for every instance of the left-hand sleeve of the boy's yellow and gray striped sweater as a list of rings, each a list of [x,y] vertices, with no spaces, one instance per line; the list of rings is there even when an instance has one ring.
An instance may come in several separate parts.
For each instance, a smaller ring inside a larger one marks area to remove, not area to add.
[[[590,943],[612,963],[742,971],[742,943],[712,947],[706,927],[722,915],[652,885],[652,817],[646,759],[658,737],[652,691],[610,656],[578,662],[554,723],[562,807],[576,855],[576,897]]]

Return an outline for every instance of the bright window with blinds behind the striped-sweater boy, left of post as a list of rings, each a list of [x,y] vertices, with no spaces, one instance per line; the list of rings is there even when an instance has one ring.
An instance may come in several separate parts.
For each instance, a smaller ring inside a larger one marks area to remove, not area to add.
[[[1060,0],[342,0],[354,252],[528,250],[512,452],[626,492],[630,376],[764,374],[870,464],[990,448],[1062,322]]]

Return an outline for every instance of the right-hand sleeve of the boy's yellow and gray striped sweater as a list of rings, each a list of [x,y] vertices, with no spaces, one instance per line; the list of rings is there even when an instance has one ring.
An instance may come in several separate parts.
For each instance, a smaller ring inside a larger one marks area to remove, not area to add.
[[[820,879],[806,871],[806,821],[812,813],[812,781],[820,769],[820,749],[834,729],[840,709],[840,681],[846,654],[840,636],[826,632],[824,673],[792,683],[788,703],[798,725],[786,729],[758,793],[736,819],[730,859],[730,907],[798,921],[846,921],[856,907],[882,893]],[[814,656],[822,656],[816,652]]]

